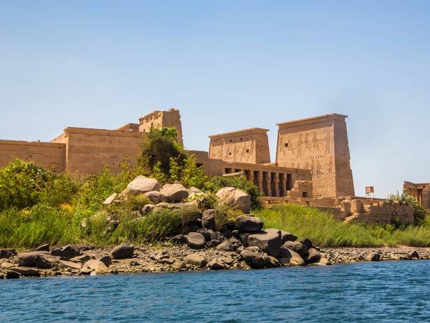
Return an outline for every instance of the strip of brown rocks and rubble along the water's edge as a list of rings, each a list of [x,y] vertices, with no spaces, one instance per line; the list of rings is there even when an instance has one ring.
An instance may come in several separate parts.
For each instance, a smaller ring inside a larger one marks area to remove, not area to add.
[[[47,249],[47,245],[42,248]],[[66,253],[52,255],[52,251],[38,250],[15,253],[12,249],[0,250],[0,279],[54,276],[84,276],[122,273],[167,273],[175,271],[201,271],[225,269],[263,269],[282,264],[258,248],[239,246],[235,251],[215,248],[196,250],[187,245],[146,245],[133,247],[122,244],[114,248],[84,245],[68,245],[53,250]],[[71,257],[73,250],[80,255]],[[56,252],[54,252],[55,254]],[[7,255],[10,257],[5,258]],[[430,248],[383,247],[383,248],[322,248],[320,260],[307,266],[327,266],[351,262],[429,260]],[[113,259],[112,259],[113,258]],[[119,259],[115,259],[119,258]],[[306,264],[302,264],[306,265]]]

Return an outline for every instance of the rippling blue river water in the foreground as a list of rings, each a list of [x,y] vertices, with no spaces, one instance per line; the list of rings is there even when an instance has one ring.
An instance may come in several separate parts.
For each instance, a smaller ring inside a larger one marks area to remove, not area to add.
[[[0,322],[430,322],[430,261],[0,280]]]

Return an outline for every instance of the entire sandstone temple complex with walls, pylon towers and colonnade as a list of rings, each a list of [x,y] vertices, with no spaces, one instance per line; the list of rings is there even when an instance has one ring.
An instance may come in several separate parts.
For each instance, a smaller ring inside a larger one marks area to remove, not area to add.
[[[355,197],[346,116],[278,123],[276,161],[271,163],[267,129],[250,128],[209,136],[209,152],[187,151],[209,176],[246,176],[265,195],[266,204],[294,202],[327,209],[339,220],[413,223],[413,209],[390,200]],[[0,140],[0,167],[13,158],[56,172],[91,174],[135,163],[151,128],[175,127],[183,144],[179,110],[155,111],[116,130],[73,128],[51,142]],[[430,184],[405,182],[404,191],[430,209]]]

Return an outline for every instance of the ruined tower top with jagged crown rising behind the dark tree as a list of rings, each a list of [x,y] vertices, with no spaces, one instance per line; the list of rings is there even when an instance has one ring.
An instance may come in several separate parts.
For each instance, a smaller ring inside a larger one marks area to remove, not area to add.
[[[154,111],[139,119],[139,131],[149,133],[151,128],[176,128],[178,131],[178,142],[184,146],[182,137],[181,115],[177,109],[169,109],[168,111]]]

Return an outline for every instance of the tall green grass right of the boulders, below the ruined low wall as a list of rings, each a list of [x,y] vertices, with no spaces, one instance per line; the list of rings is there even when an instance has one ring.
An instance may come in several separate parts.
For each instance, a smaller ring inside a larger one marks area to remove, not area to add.
[[[430,219],[422,225],[363,225],[342,223],[330,213],[306,206],[284,204],[253,213],[273,227],[308,237],[316,246],[376,247],[376,246],[430,246]]]

